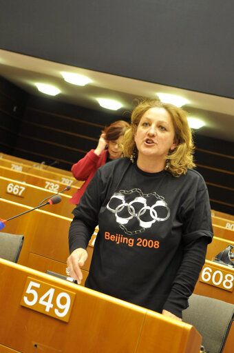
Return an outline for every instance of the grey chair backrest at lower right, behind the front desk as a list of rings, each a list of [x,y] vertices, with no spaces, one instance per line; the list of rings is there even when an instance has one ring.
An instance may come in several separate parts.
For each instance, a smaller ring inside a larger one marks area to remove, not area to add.
[[[192,294],[183,321],[193,325],[202,335],[202,345],[209,353],[221,353],[234,319],[234,305]]]

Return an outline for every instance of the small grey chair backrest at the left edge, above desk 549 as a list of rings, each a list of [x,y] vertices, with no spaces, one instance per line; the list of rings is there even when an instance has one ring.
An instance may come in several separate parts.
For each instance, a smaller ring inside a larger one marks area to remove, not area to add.
[[[0,257],[17,262],[23,245],[23,235],[0,232]]]

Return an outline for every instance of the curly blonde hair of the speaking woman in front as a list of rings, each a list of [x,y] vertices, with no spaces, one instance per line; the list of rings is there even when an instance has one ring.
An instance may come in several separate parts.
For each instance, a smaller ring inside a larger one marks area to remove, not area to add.
[[[149,99],[141,101],[131,113],[131,125],[125,132],[125,138],[123,143],[123,152],[125,157],[131,157],[136,150],[136,143],[134,134],[140,123],[142,115],[151,108],[164,108],[169,112],[173,127],[175,129],[175,140],[178,141],[178,145],[166,157],[167,160],[167,171],[170,172],[173,177],[180,177],[181,174],[186,174],[188,168],[194,168],[193,163],[193,137],[191,129],[187,121],[187,112],[182,108],[178,108],[173,104],[162,103],[156,99]],[[137,150],[136,150],[137,153]]]

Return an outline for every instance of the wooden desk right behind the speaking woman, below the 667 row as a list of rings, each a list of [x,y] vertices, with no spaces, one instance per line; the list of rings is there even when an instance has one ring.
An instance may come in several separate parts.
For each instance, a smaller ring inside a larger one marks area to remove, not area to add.
[[[53,207],[54,205],[50,205],[50,208]],[[30,209],[26,205],[0,199],[1,219],[9,219]],[[41,210],[34,210],[8,221],[3,231],[24,236],[19,264],[42,272],[50,270],[65,274],[67,257],[69,256],[68,232],[70,223],[70,218],[46,212],[41,208]],[[96,232],[92,235],[87,247],[89,256],[82,268],[82,285],[85,283],[89,271]]]

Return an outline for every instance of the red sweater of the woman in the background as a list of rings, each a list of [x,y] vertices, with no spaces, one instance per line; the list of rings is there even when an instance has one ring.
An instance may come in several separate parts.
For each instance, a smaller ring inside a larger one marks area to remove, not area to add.
[[[72,165],[72,174],[77,180],[85,180],[85,183],[70,199],[70,203],[77,205],[81,199],[81,196],[85,192],[89,181],[94,177],[96,170],[105,164],[107,161],[107,150],[104,150],[100,156],[94,153],[94,150],[87,152],[83,159],[80,159],[76,164]]]

